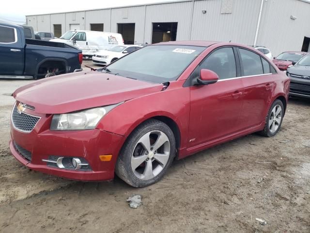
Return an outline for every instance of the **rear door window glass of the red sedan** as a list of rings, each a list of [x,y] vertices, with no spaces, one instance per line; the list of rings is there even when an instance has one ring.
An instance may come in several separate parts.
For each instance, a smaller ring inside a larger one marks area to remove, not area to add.
[[[239,49],[243,65],[243,76],[263,74],[261,56],[249,50]]]

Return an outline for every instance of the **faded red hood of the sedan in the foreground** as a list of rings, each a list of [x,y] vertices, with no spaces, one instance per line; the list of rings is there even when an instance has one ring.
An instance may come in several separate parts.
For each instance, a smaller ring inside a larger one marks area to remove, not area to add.
[[[13,93],[13,97],[35,107],[35,113],[62,114],[123,102],[161,91],[162,88],[161,83],[81,71],[22,86]]]

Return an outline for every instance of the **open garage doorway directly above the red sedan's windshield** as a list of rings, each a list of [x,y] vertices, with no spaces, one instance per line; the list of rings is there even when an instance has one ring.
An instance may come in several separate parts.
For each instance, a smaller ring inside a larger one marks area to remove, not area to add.
[[[153,23],[152,44],[176,40],[177,22]]]

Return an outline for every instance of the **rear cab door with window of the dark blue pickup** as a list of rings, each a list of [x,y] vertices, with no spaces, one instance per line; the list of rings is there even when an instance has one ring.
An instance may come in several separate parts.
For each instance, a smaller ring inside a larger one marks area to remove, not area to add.
[[[23,75],[24,49],[16,28],[0,26],[0,75]]]

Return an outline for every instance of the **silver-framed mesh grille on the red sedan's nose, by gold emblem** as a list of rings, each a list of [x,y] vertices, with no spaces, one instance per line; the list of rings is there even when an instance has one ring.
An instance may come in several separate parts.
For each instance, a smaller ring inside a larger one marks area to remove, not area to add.
[[[17,105],[15,104],[12,111],[12,123],[17,130],[30,133],[39,119],[40,117],[38,116],[31,116],[23,112],[18,113]]]

